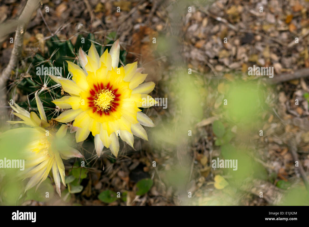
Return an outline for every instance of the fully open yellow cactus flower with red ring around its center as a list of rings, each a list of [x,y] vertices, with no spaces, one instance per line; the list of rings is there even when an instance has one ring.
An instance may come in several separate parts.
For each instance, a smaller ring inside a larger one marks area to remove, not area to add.
[[[74,120],[76,142],[84,141],[90,132],[95,137],[95,150],[100,157],[103,147],[117,157],[120,138],[133,147],[133,135],[148,140],[145,129],[154,127],[152,120],[139,107],[157,103],[150,95],[154,82],[144,82],[147,74],[140,73],[137,62],[118,68],[120,45],[117,40],[101,57],[94,44],[88,55],[79,48],[82,68],[67,61],[72,79],[50,76],[61,84],[66,95],[53,103],[63,109],[55,120],[67,123]],[[145,100],[149,100],[145,104]]]

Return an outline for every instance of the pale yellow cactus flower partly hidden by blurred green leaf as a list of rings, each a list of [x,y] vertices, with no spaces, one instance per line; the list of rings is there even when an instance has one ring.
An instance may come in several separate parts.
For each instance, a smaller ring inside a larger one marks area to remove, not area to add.
[[[47,178],[50,170],[53,173],[53,179],[56,184],[57,192],[60,192],[60,177],[64,186],[65,170],[62,159],[72,157],[83,158],[83,155],[78,150],[70,147],[61,139],[66,135],[67,125],[61,125],[59,130],[54,129],[48,123],[43,105],[37,95],[35,94],[36,104],[40,113],[40,118],[35,112],[28,112],[19,107],[16,103],[11,108],[12,112],[23,121],[8,121],[10,124],[23,123],[31,126],[27,128],[27,133],[33,135],[32,140],[28,142],[25,152],[22,153],[22,158],[25,159],[25,170],[21,172],[22,179],[30,178],[25,191],[37,184],[36,189]],[[24,130],[25,128],[17,128],[11,130]],[[9,130],[9,131],[11,131]],[[59,176],[60,175],[60,176]]]

